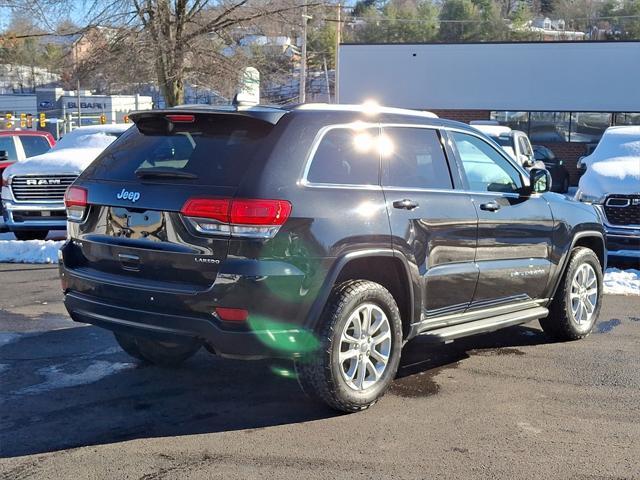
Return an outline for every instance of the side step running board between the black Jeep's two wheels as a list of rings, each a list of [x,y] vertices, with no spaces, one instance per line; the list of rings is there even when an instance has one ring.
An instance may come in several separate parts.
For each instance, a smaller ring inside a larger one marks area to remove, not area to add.
[[[537,320],[546,317],[549,310],[545,307],[534,307],[518,312],[505,313],[484,320],[476,320],[474,322],[461,323],[450,327],[436,328],[435,330],[427,330],[418,336],[424,340],[433,340],[433,343],[451,342],[457,338],[468,337],[478,333],[493,332],[504,327],[520,325],[522,323]]]

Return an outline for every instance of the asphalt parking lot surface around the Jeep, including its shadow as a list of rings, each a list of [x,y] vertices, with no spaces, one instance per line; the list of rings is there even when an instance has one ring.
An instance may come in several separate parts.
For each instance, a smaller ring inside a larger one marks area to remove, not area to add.
[[[136,364],[70,321],[57,271],[0,265],[0,478],[640,478],[640,297],[586,340],[537,323],[414,341],[391,392],[340,415],[282,362]]]

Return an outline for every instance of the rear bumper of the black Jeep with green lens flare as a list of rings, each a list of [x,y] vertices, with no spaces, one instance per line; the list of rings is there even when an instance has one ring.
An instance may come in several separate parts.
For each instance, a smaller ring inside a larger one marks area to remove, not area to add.
[[[92,276],[60,263],[64,304],[77,322],[151,338],[198,338],[215,353],[233,358],[296,358],[313,351],[317,339],[303,327],[307,302],[283,299],[278,295],[283,290],[272,290],[266,277],[246,273],[219,274],[202,291],[162,290],[151,281],[128,277],[124,283],[114,275]],[[301,279],[286,275],[279,285],[300,291]],[[222,321],[216,306],[247,309],[249,318]]]

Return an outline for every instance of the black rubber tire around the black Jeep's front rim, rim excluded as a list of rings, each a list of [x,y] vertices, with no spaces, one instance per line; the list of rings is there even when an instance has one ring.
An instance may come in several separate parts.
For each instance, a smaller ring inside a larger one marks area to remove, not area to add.
[[[596,276],[597,299],[591,318],[584,324],[579,324],[571,308],[571,286],[578,272],[584,264],[593,268]],[[600,307],[602,305],[603,275],[602,266],[593,250],[577,247],[571,252],[569,263],[562,276],[556,295],[549,307],[549,316],[540,319],[544,332],[553,340],[568,341],[584,338],[593,330]]]

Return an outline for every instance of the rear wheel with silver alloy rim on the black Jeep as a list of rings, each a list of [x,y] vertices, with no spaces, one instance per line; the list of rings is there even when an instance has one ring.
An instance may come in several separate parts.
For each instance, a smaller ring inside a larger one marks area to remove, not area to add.
[[[318,351],[296,362],[308,395],[343,412],[364,410],[384,395],[402,348],[400,312],[387,289],[365,280],[334,287],[319,335]]]

